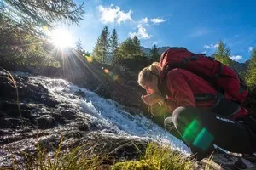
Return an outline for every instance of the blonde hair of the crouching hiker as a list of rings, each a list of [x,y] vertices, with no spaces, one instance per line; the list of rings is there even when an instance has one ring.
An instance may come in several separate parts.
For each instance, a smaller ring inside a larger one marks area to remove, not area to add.
[[[142,86],[143,82],[148,81],[151,82],[152,76],[160,76],[160,71],[162,70],[162,67],[160,66],[160,63],[154,62],[151,65],[143,68],[142,71],[138,74],[137,82],[140,86]]]

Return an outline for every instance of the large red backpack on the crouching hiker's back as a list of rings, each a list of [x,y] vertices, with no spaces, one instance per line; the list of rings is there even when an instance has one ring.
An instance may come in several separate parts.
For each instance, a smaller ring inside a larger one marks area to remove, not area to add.
[[[186,48],[169,48],[160,57],[164,75],[174,68],[182,68],[211,82],[224,96],[243,103],[247,97],[247,85],[236,71],[205,54],[194,54]],[[164,78],[165,78],[164,76]]]

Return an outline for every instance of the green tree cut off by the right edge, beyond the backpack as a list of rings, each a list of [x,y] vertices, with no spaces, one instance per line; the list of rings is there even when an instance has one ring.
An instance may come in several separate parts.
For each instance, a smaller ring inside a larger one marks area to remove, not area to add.
[[[246,80],[247,80],[247,85],[249,87],[255,86],[256,84],[256,48],[253,48],[253,51],[251,54],[251,60],[248,66]]]

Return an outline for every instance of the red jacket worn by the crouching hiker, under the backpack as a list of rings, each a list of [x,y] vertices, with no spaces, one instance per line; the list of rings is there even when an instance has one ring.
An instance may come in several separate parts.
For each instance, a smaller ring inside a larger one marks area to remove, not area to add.
[[[164,75],[161,73],[160,82]],[[193,106],[211,110],[215,100],[196,101],[194,94],[218,94],[218,91],[212,87],[212,84],[198,77],[192,72],[183,69],[172,69],[166,75],[166,84],[163,90],[166,94],[166,106],[169,111],[174,111],[179,106]],[[241,106],[241,110],[233,116],[237,118],[247,115],[247,110]]]

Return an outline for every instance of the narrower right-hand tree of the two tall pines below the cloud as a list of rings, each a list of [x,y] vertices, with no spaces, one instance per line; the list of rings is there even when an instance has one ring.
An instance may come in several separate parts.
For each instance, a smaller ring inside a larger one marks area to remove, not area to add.
[[[115,29],[112,31],[112,35],[109,38],[109,47],[110,47],[110,63],[113,63],[113,60],[117,57],[119,46],[119,39]]]

